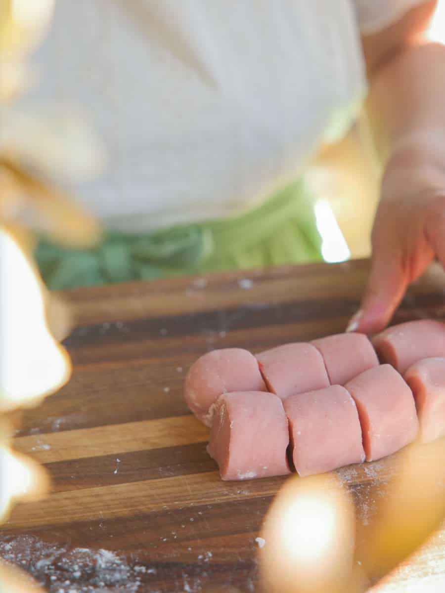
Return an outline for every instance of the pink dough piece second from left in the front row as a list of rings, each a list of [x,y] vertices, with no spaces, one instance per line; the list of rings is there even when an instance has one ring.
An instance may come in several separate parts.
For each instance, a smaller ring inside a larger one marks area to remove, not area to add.
[[[291,451],[300,476],[363,463],[365,453],[357,407],[348,391],[332,385],[284,401]]]

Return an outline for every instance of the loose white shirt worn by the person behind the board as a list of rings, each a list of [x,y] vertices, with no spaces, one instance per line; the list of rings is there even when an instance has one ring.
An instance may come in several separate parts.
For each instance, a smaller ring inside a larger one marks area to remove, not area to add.
[[[107,165],[74,189],[111,227],[230,216],[345,133],[360,32],[421,1],[59,0],[24,103],[88,114]]]

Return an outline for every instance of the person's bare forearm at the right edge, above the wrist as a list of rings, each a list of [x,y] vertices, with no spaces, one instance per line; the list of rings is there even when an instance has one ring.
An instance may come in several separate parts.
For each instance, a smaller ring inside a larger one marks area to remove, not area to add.
[[[367,111],[383,161],[445,171],[445,46],[401,49],[371,76]]]

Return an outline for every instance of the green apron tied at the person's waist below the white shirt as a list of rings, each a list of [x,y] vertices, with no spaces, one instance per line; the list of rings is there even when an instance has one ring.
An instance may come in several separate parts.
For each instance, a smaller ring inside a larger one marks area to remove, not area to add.
[[[135,279],[322,260],[314,196],[304,179],[237,218],[144,234],[106,231],[93,249],[40,241],[35,256],[53,290]]]

